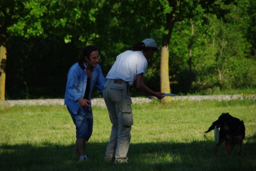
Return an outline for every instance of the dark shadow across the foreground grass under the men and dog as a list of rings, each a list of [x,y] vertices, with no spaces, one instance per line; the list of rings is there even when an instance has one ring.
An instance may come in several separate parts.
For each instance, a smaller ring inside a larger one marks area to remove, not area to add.
[[[256,169],[256,133],[246,138],[242,156],[237,157],[234,147],[232,155],[226,157],[224,144],[216,157],[212,156],[213,141],[191,143],[159,142],[131,143],[127,164],[104,163],[106,143],[88,143],[89,161],[78,162],[72,158],[73,145],[58,145],[49,142],[38,146],[29,143],[0,145],[1,170],[92,170],[92,171],[229,171]]]

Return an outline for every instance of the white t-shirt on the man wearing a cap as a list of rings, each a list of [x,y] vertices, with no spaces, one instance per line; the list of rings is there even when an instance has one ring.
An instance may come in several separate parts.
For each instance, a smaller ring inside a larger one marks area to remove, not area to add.
[[[145,73],[148,61],[141,51],[128,50],[116,57],[106,79],[122,79],[133,85],[136,75]]]

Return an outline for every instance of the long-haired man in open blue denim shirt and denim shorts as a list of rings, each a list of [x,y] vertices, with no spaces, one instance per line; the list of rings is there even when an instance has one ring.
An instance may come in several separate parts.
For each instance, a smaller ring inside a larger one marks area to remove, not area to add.
[[[82,58],[68,72],[65,105],[76,125],[74,155],[80,155],[80,161],[88,159],[85,145],[92,135],[93,116],[90,102],[92,89],[95,85],[100,93],[103,93],[106,83],[98,62],[99,54],[96,46],[86,46],[82,50]]]

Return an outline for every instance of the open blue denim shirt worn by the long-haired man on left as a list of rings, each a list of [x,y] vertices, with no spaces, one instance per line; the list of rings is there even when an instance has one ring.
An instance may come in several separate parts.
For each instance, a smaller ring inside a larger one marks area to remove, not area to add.
[[[84,64],[85,68],[86,65]],[[78,108],[80,106],[77,101],[80,97],[84,98],[84,93],[86,90],[86,82],[87,82],[87,74],[86,70],[82,70],[82,68],[78,65],[78,63],[74,64],[69,72],[68,72],[68,80],[66,84],[66,92],[65,92],[65,102],[64,105],[67,105],[68,109],[77,114]],[[98,88],[100,93],[103,93],[103,87],[106,83],[106,80],[102,74],[100,65],[97,65],[92,69],[92,77],[90,82],[90,91],[88,100],[91,99],[91,93],[94,85]],[[91,103],[90,103],[91,106]]]

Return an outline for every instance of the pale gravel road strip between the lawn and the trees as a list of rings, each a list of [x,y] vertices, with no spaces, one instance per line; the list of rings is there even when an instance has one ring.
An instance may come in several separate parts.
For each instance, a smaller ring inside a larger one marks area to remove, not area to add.
[[[148,103],[155,97],[132,97],[132,103]],[[199,100],[231,100],[231,99],[256,99],[256,95],[182,95],[174,96],[172,100],[190,100],[190,101],[199,101]],[[64,99],[25,99],[25,100],[6,100],[6,106],[14,105],[64,105]],[[94,98],[92,99],[92,105],[106,107],[103,98]]]

